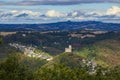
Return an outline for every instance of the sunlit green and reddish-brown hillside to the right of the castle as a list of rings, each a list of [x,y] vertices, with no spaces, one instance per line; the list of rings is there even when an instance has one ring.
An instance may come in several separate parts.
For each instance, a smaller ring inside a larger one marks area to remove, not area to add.
[[[120,40],[108,39],[86,46],[81,50],[74,51],[83,58],[93,60],[101,66],[120,65]]]

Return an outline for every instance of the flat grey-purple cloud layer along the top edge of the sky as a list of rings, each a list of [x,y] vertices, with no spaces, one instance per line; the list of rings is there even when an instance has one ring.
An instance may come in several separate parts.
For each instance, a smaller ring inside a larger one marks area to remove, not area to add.
[[[120,3],[120,0],[22,0],[4,2],[0,1],[0,5],[73,5],[81,3]]]

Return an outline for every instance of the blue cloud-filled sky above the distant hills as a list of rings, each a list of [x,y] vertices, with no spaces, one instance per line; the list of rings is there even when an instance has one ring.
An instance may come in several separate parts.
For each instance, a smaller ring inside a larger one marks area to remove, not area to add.
[[[0,24],[120,23],[120,0],[0,0]]]

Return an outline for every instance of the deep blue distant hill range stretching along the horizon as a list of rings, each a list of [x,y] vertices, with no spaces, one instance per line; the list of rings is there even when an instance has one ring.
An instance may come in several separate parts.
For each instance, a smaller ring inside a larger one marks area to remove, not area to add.
[[[98,21],[57,22],[46,24],[0,24],[0,31],[48,31],[48,30],[120,30],[120,24],[102,23]]]

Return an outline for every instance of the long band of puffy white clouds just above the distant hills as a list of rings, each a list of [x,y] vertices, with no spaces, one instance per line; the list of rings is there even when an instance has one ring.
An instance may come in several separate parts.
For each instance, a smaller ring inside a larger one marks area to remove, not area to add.
[[[113,6],[106,11],[99,10],[75,10],[71,12],[59,12],[47,10],[46,12],[32,10],[0,11],[0,22],[56,22],[56,21],[112,21],[120,22],[120,7]]]

